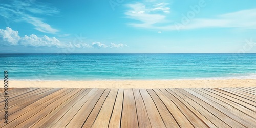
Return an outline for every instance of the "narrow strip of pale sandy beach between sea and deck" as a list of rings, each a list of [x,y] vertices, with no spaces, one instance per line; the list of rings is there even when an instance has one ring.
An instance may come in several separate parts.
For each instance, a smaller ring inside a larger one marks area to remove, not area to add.
[[[120,81],[9,81],[10,88],[223,88],[255,87],[256,79],[120,80]]]

